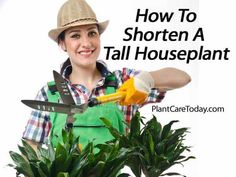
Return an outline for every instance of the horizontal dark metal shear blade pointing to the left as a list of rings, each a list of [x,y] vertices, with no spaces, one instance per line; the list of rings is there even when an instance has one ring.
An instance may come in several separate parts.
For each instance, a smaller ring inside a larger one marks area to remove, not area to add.
[[[37,109],[40,111],[57,112],[69,115],[83,113],[84,110],[86,110],[86,108],[88,107],[88,104],[67,105],[62,103],[51,103],[37,100],[21,100],[21,102],[33,109]]]

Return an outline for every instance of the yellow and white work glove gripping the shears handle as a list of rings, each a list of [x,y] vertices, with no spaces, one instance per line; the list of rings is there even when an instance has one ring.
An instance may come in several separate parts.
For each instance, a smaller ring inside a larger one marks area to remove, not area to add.
[[[118,92],[125,92],[126,97],[120,101],[121,105],[143,104],[154,87],[154,80],[149,72],[141,71],[138,75],[128,79],[121,85]]]

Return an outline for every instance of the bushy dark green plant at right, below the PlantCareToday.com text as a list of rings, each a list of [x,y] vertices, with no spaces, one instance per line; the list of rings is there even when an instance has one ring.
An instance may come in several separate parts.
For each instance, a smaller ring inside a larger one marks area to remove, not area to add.
[[[172,125],[178,121],[171,121],[162,127],[155,116],[145,124],[143,119],[140,113],[132,118],[128,135],[119,134],[109,122],[104,120],[115,140],[119,140],[120,147],[136,150],[136,155],[131,156],[126,165],[131,168],[136,177],[141,177],[142,172],[146,177],[181,175],[176,172],[165,173],[165,171],[173,165],[195,158],[183,155],[185,151],[190,151],[190,147],[183,143],[188,128],[172,129]],[[143,128],[140,126],[141,123]]]

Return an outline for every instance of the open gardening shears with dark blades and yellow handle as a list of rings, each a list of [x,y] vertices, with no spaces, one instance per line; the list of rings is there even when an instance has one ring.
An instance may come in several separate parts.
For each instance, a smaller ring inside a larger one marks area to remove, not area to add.
[[[109,95],[91,98],[84,104],[76,105],[65,79],[56,71],[53,71],[53,76],[56,88],[63,103],[53,103],[37,100],[21,100],[21,102],[33,109],[37,109],[40,111],[67,114],[68,119],[70,119],[74,114],[83,113],[88,107],[93,107],[107,102],[117,102],[123,100],[126,96],[125,92],[116,92]],[[68,122],[72,122],[72,120],[68,120]]]

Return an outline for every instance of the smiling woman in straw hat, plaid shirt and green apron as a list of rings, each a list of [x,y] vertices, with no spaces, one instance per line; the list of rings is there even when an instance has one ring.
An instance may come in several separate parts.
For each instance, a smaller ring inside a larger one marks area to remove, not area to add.
[[[123,68],[110,72],[102,61],[97,60],[101,48],[100,35],[108,21],[99,23],[84,0],[68,0],[59,10],[57,21],[57,28],[49,31],[49,37],[69,56],[62,66],[61,74],[67,80],[76,104],[114,93],[116,89],[127,93],[118,104],[95,106],[74,116],[74,132],[80,136],[83,146],[88,141],[94,140],[96,144],[112,138],[107,130],[98,128],[102,127],[100,117],[109,118],[115,128],[124,132],[122,121],[125,119],[129,123],[138,108],[150,102],[160,102],[167,90],[182,87],[191,80],[187,73],[175,68],[152,72]],[[50,85],[45,85],[36,99],[61,101],[55,95]],[[33,111],[23,138],[36,148],[39,143],[46,142],[50,133],[56,145],[65,122],[66,115]]]

